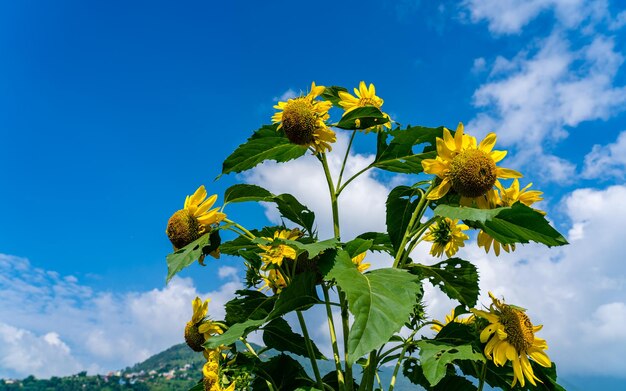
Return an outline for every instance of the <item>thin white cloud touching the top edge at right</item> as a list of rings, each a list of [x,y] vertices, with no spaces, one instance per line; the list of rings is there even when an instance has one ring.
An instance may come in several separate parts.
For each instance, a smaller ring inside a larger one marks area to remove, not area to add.
[[[465,0],[463,7],[472,22],[486,21],[495,34],[520,33],[524,26],[543,13],[552,12],[558,25],[580,27],[608,17],[605,0]]]

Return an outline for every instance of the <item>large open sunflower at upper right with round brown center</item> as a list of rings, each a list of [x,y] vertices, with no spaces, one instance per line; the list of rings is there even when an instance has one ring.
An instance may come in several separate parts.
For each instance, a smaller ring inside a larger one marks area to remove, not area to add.
[[[426,174],[437,175],[441,182],[426,197],[437,200],[452,188],[461,195],[461,203],[487,193],[498,179],[519,178],[519,172],[496,166],[506,151],[494,151],[496,134],[489,133],[480,144],[476,138],[463,133],[459,123],[454,137],[446,128],[443,139],[437,137],[437,157],[422,160]]]

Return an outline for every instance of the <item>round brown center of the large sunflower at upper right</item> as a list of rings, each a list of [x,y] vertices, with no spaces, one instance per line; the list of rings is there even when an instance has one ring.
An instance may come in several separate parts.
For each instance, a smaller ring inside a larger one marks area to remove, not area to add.
[[[496,183],[496,163],[480,149],[468,149],[452,159],[448,175],[457,193],[465,197],[480,197]]]

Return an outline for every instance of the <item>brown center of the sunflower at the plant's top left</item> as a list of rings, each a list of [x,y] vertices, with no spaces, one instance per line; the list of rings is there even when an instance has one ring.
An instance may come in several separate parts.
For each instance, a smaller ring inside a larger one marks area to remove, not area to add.
[[[298,145],[308,145],[314,141],[317,116],[310,98],[291,99],[283,109],[283,129],[289,141]]]

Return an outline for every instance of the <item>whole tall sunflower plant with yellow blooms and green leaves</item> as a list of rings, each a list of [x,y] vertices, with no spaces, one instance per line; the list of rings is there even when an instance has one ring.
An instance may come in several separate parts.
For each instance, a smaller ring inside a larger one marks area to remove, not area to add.
[[[496,134],[477,140],[462,124],[402,126],[365,82],[353,93],[313,83],[275,109],[271,125],[226,157],[220,176],[313,156],[326,178],[333,234],[320,237],[315,213],[295,196],[260,186],[229,187],[221,206],[204,186],[186,197],[167,224],[174,248],[167,281],[195,261],[204,265],[206,255],[239,257],[246,270],[246,288],[226,303],[224,319],[211,318],[208,301],[192,303],[184,337],[206,358],[194,390],[392,391],[400,372],[426,390],[563,389],[542,326],[491,292],[492,303],[481,306],[476,266],[456,257],[470,240],[496,255],[531,241],[567,243],[531,208],[542,193],[502,166],[507,152],[496,149]],[[327,156],[337,132],[350,141],[333,176]],[[356,137],[369,138],[376,155],[344,177]],[[384,232],[342,236],[338,199],[369,170],[412,185],[390,191]],[[244,227],[225,211],[242,202],[274,204],[283,224]],[[441,261],[418,259],[413,250],[422,242]],[[373,253],[383,267],[372,267]],[[443,322],[428,315],[426,282],[458,303]],[[325,349],[309,331],[320,317]]]

